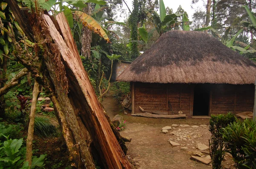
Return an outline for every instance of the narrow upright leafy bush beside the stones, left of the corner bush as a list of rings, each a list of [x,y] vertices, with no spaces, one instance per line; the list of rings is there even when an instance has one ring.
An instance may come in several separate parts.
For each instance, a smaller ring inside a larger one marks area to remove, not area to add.
[[[212,158],[212,168],[220,169],[221,161],[224,158],[224,143],[221,134],[223,127],[227,127],[228,124],[236,121],[236,117],[233,113],[227,113],[226,115],[211,115],[209,120],[209,131],[211,132],[211,138],[209,139],[209,150]]]

